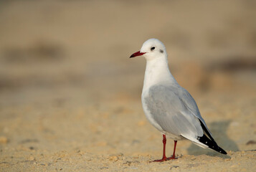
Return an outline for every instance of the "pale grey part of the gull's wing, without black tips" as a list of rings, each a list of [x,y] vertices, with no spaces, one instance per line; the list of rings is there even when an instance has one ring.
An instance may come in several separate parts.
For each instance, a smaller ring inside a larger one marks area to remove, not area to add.
[[[152,86],[145,97],[147,108],[164,131],[197,142],[196,138],[204,134],[199,118],[191,113],[177,89]]]

